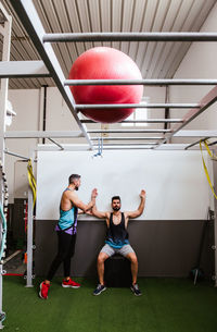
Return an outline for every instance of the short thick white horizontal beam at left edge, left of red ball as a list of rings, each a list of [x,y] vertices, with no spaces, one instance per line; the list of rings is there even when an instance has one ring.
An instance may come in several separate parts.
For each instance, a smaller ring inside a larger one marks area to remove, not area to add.
[[[1,61],[0,78],[50,77],[43,61]]]

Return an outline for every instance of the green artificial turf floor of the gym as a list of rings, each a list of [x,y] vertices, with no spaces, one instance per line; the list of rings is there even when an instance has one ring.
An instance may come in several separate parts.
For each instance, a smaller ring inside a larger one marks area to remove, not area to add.
[[[107,288],[76,279],[78,290],[52,282],[48,300],[38,297],[40,280],[26,288],[20,276],[3,276],[5,332],[216,332],[217,288],[187,279],[139,279],[142,296],[129,288]]]

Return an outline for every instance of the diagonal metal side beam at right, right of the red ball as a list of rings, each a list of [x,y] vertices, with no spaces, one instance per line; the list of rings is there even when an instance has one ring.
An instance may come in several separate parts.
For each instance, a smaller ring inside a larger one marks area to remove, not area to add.
[[[208,107],[210,107],[216,101],[217,101],[217,86],[214,87],[206,96],[204,96],[204,98],[202,98],[202,100],[199,102],[201,107],[197,110],[191,109],[184,115],[183,123],[181,125],[175,124],[174,126],[170,127],[171,133],[162,143],[159,143],[159,145],[167,143],[173,136],[175,136],[176,133],[182,130],[187,124],[189,124],[192,120],[197,118],[201,113],[203,113]],[[210,135],[203,135],[203,137],[204,136],[210,136]]]

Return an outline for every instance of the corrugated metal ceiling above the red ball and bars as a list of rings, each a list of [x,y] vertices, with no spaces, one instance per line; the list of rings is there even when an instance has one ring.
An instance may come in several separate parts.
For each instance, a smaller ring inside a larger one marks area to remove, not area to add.
[[[38,60],[34,44],[14,13],[11,60]],[[47,33],[197,32],[216,0],[34,0]],[[190,42],[62,42],[53,45],[67,78],[76,58],[89,48],[110,46],[129,54],[143,78],[171,78]],[[0,51],[2,40],[0,40]],[[53,86],[51,78],[13,78],[10,88]]]

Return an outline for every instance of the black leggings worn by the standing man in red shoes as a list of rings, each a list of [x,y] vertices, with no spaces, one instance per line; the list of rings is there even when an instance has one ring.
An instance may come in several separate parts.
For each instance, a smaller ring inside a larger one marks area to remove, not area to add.
[[[51,281],[63,262],[64,276],[71,275],[71,258],[75,253],[76,234],[69,235],[63,231],[58,231],[58,255],[51,263],[47,274],[47,280]]]

